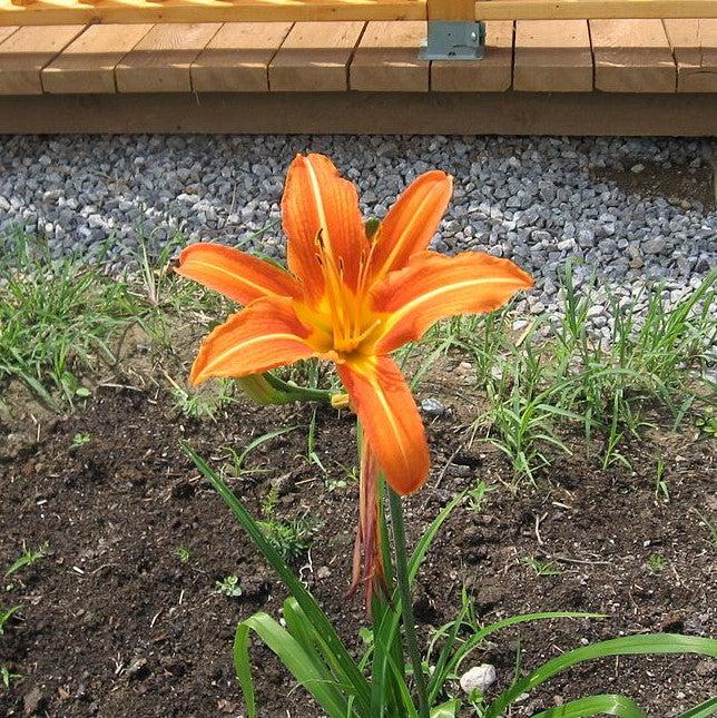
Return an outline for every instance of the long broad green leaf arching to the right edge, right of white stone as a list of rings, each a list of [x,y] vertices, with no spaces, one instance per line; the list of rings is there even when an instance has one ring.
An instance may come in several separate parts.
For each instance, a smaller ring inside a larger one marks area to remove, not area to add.
[[[640,653],[701,653],[715,658],[717,657],[717,640],[676,633],[651,633],[647,636],[625,636],[576,648],[549,660],[526,678],[513,683],[509,690],[500,695],[489,706],[485,718],[502,716],[518,696],[532,690],[556,673],[576,663],[606,656],[635,656]]]

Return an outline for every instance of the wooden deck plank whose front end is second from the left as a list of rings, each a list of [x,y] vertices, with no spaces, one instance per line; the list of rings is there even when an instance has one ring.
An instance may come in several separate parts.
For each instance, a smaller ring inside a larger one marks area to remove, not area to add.
[[[115,67],[151,24],[91,24],[41,73],[46,92],[116,92]]]

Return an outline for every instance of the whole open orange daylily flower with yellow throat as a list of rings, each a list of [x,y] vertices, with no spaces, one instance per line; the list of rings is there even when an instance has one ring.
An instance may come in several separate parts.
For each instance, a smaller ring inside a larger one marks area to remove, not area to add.
[[[391,352],[438,319],[497,309],[533,286],[508,259],[426,250],[451,193],[449,175],[421,175],[366,236],[354,185],[327,157],[297,156],[282,199],[288,272],[215,244],[179,257],[180,275],[245,305],[205,340],[191,382],[334,362],[371,447],[364,473],[377,465],[397,493],[416,491],[429,472],[425,431]],[[373,524],[364,504],[362,524]]]

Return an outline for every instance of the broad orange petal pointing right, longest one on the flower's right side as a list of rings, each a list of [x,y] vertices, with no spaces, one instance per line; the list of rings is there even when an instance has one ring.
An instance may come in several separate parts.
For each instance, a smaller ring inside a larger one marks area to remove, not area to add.
[[[373,308],[389,315],[375,351],[385,354],[414,342],[446,316],[498,309],[532,286],[532,277],[508,259],[480,252],[421,253],[374,288]]]

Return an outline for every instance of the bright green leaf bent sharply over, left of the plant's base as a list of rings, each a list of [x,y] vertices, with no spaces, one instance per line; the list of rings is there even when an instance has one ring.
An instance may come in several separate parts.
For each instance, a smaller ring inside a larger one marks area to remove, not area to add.
[[[327,672],[316,666],[311,653],[304,650],[285,628],[282,628],[271,616],[255,613],[242,621],[234,639],[234,668],[246,701],[249,718],[256,716],[256,702],[252,681],[252,668],[248,656],[248,636],[254,631],[266,646],[276,653],[282,663],[294,678],[306,688],[316,702],[332,717],[343,718],[347,715],[347,702],[335,681],[327,679]]]

